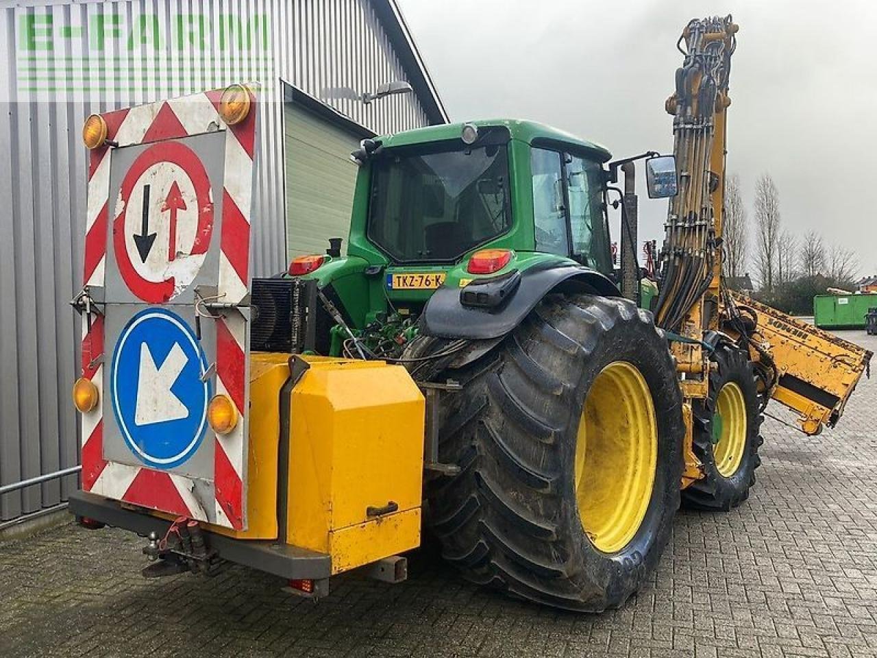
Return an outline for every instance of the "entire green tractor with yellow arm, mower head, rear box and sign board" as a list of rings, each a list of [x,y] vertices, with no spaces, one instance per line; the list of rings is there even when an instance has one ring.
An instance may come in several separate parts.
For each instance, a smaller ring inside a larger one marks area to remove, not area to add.
[[[681,501],[730,510],[748,497],[768,399],[818,433],[837,423],[871,357],[724,284],[736,32],[730,16],[682,32],[686,55],[666,105],[674,156],[610,161],[602,147],[527,121],[433,126],[367,139],[353,154],[360,169],[345,256],[332,239],[326,254],[296,258],[289,276],[230,288],[224,276],[214,285],[204,275],[210,285],[173,304],[138,293],[118,266],[93,270],[75,300],[85,317],[74,386],[85,442],[71,511],[91,526],[148,535],[147,576],[205,575],[230,560],[310,597],[351,569],[403,580],[399,554],[420,545],[423,512],[446,560],[476,583],[574,611],[624,604],[652,577]],[[250,92],[217,91],[218,114],[197,104],[203,125],[225,125],[208,128],[216,132],[208,139],[252,135],[241,100]],[[160,107],[138,116],[160,116]],[[111,180],[139,181],[139,158],[170,158],[204,138],[120,146],[107,141],[115,133],[103,115],[86,127],[91,147],[103,149],[92,162],[116,162],[104,168],[118,172]],[[657,284],[636,258],[639,159],[649,196],[670,199]],[[236,167],[225,175],[252,174]],[[624,190],[615,187],[619,171]],[[150,184],[169,187],[162,176]],[[99,180],[89,183],[89,207],[115,197]],[[149,205],[130,204],[125,223],[120,204],[116,222],[128,233],[104,222],[89,236],[94,253],[111,236],[110,256],[130,260],[136,240],[125,235],[146,226]],[[610,206],[620,207],[618,270]],[[220,262],[225,242],[211,241],[210,262]],[[133,316],[132,295],[141,307]],[[180,315],[187,307],[189,319]],[[140,329],[138,339],[132,332],[146,320],[174,328]],[[148,375],[151,350],[173,349],[167,336],[180,350],[189,345],[178,364],[201,363],[178,372],[210,424],[196,453],[185,451],[203,437],[204,420],[155,430],[198,418],[176,415],[176,380],[153,386],[165,378]],[[112,416],[103,398],[113,400]],[[141,400],[148,422],[137,421]],[[167,454],[141,458],[153,455],[147,443],[164,450],[169,440],[193,459],[168,473]]]

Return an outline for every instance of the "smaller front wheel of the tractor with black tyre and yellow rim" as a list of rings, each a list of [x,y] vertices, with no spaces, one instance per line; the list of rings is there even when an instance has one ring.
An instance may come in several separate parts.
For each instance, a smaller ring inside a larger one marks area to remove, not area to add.
[[[712,356],[709,397],[695,403],[693,449],[703,478],[682,491],[686,507],[729,511],[749,497],[755,469],[761,464],[755,372],[746,353],[719,345]]]

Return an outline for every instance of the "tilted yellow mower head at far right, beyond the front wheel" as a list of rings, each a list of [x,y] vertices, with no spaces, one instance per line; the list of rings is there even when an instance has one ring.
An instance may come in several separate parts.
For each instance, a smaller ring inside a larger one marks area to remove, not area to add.
[[[732,296],[756,316],[752,340],[774,361],[777,376],[770,396],[799,414],[805,434],[818,434],[823,425],[833,427],[873,353],[770,306]],[[753,352],[753,361],[764,361]]]

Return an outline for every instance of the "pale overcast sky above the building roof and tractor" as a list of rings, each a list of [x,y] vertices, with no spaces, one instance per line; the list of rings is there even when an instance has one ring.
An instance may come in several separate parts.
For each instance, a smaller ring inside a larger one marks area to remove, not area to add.
[[[728,171],[750,232],[755,181],[768,172],[786,229],[822,232],[859,255],[862,274],[877,273],[873,0],[398,2],[452,120],[530,118],[615,157],[671,151],[676,39],[690,18],[733,14]],[[660,245],[666,212],[641,195],[643,239]]]

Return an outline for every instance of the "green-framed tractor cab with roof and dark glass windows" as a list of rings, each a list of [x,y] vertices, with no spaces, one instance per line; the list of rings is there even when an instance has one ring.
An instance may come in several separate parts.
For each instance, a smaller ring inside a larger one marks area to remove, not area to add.
[[[394,268],[450,268],[480,249],[508,249],[611,275],[609,158],[595,144],[518,120],[366,140],[353,154],[366,192],[357,202],[366,203],[354,204],[350,253]]]

